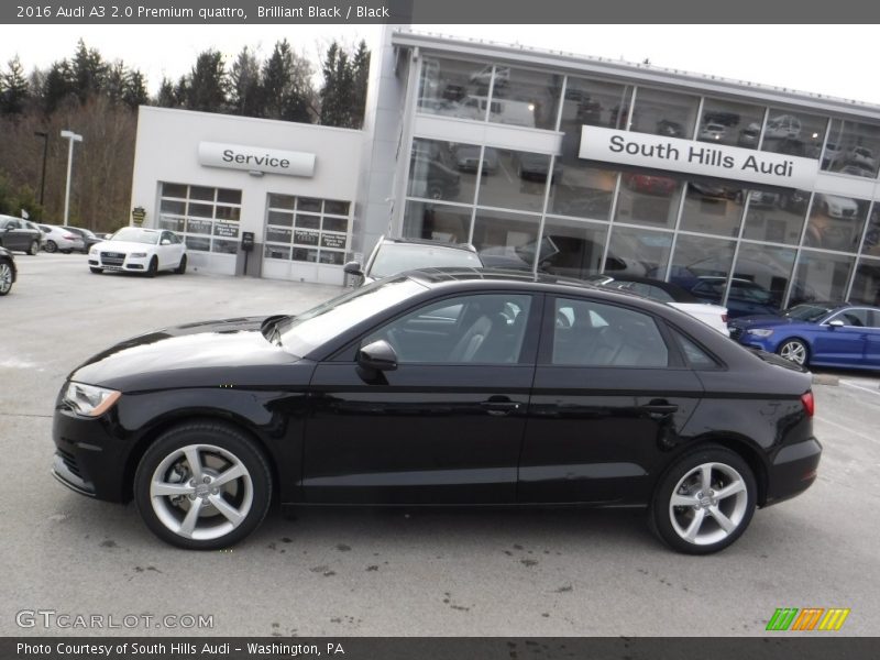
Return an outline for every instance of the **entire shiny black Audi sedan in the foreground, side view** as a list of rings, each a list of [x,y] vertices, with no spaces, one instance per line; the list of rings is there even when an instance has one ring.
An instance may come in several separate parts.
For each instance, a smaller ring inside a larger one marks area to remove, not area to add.
[[[810,375],[669,306],[428,270],[142,334],[59,393],[54,474],[229,547],[283,505],[646,506],[701,554],[816,475]]]

